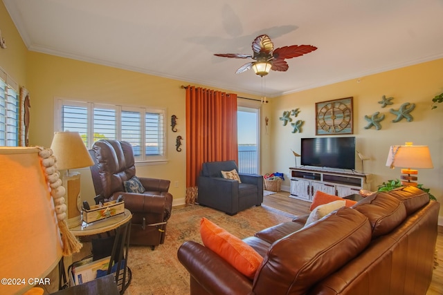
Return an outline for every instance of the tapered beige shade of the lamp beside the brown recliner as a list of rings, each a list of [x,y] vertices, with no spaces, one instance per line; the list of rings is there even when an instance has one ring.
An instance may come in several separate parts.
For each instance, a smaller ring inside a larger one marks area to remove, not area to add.
[[[54,133],[51,149],[57,158],[59,170],[83,168],[94,164],[78,132]]]

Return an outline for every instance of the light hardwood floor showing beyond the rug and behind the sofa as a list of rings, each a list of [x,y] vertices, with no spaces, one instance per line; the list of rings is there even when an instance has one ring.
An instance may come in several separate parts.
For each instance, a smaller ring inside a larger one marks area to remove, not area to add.
[[[289,198],[287,191],[280,191],[264,197],[263,204],[297,216],[309,213],[309,207],[311,206],[310,202]],[[426,292],[426,295],[443,294],[443,227],[441,226],[438,227],[435,249],[438,265],[435,265],[431,286],[428,292]]]

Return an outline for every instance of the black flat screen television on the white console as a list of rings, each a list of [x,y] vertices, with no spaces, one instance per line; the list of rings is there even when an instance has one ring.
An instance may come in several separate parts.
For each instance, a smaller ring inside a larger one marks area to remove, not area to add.
[[[302,138],[301,164],[355,169],[355,137]]]

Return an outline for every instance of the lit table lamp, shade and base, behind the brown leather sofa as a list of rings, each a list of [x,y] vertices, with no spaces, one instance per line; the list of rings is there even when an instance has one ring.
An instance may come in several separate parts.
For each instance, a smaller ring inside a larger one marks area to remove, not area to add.
[[[401,185],[417,187],[418,171],[411,168],[431,169],[434,168],[428,146],[414,146],[412,142],[406,142],[404,146],[390,146],[386,166],[391,169],[401,169]]]

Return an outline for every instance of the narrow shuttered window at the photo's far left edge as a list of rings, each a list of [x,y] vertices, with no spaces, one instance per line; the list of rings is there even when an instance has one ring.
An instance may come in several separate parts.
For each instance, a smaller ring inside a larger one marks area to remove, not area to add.
[[[0,146],[19,146],[19,95],[15,88],[17,84],[8,82],[0,70]]]

